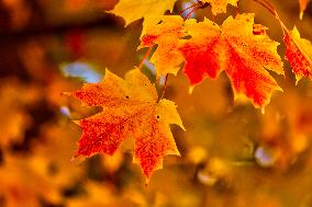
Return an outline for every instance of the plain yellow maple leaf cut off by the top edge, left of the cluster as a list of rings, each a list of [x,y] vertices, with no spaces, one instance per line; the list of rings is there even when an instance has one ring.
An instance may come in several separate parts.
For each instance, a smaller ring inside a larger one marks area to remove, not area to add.
[[[169,10],[172,11],[176,0],[120,0],[109,13],[122,16],[125,26],[130,23],[144,18],[142,34],[151,26],[159,22],[160,16]]]

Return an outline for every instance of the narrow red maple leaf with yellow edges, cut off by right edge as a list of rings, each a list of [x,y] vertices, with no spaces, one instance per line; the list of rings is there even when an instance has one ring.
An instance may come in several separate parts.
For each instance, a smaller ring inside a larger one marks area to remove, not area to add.
[[[286,44],[286,59],[290,62],[296,74],[297,83],[303,77],[312,78],[312,44],[300,38],[300,33],[294,27],[283,37]]]

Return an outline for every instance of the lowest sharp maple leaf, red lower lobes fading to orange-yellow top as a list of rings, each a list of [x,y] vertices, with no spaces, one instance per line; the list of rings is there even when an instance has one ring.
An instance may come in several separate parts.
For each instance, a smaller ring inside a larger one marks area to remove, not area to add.
[[[183,128],[174,102],[159,102],[155,87],[134,69],[121,79],[107,70],[101,83],[85,84],[71,93],[88,106],[102,106],[102,112],[77,122],[82,128],[76,156],[113,154],[123,140],[134,138],[134,162],[146,179],[163,166],[166,154],[177,154],[169,124]]]

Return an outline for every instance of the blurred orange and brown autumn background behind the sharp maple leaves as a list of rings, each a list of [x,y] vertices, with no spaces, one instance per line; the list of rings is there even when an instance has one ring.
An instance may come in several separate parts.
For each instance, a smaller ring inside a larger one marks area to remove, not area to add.
[[[99,82],[105,68],[122,77],[145,53],[136,51],[142,20],[124,27],[104,12],[116,2],[0,1],[0,207],[312,206],[312,81],[296,85],[286,61],[286,77],[272,73],[283,92],[264,113],[234,103],[224,74],[192,94],[181,72],[169,76],[165,97],[177,103],[187,131],[171,127],[181,157],[166,157],[147,186],[132,163],[132,143],[113,157],[71,161],[81,134],[71,119],[99,108],[62,92]],[[300,21],[298,1],[271,2],[289,28],[296,24],[312,41],[311,3]],[[174,13],[188,5],[177,2]],[[227,9],[215,22],[235,14]],[[239,11],[255,12],[282,43],[278,22],[255,1],[239,1]],[[209,8],[193,13],[204,15],[212,19]],[[279,54],[283,59],[282,44]],[[153,78],[153,66],[144,69]]]

